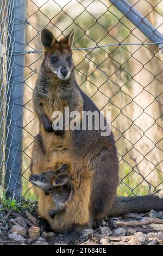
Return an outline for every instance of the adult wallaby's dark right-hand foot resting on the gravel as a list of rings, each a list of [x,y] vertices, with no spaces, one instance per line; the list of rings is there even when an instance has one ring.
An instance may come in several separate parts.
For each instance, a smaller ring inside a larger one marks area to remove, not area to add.
[[[78,224],[73,224],[72,227],[65,232],[65,243],[69,245],[69,243],[78,240],[80,235],[82,234],[82,229],[82,226]]]

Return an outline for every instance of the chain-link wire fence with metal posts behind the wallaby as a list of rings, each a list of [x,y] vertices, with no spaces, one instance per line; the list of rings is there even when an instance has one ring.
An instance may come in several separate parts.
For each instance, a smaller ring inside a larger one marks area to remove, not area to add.
[[[32,93],[45,27],[57,38],[76,27],[76,80],[100,110],[111,111],[120,164],[118,194],[158,193],[163,180],[163,1],[0,3],[1,198],[14,193],[35,199],[28,181],[38,132]]]

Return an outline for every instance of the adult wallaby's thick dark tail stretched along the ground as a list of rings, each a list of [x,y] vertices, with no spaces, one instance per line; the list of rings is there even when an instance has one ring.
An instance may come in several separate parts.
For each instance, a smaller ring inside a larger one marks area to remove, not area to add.
[[[109,216],[123,216],[131,212],[149,212],[163,210],[163,198],[158,196],[116,197]]]

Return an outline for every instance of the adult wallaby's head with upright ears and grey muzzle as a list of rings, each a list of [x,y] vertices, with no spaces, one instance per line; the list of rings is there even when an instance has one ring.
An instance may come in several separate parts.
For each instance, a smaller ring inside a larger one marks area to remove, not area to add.
[[[45,48],[43,60],[45,69],[49,74],[61,80],[66,80],[74,68],[71,50],[74,33],[73,29],[70,34],[58,41],[48,29],[44,28],[41,31],[41,42]]]

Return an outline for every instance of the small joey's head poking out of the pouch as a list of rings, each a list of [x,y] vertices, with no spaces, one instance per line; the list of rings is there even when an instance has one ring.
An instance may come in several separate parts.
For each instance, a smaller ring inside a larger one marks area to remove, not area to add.
[[[66,164],[62,164],[55,172],[48,170],[43,173],[30,175],[29,181],[42,190],[49,191],[55,187],[63,186],[70,179],[70,175],[65,173],[65,170]]]

